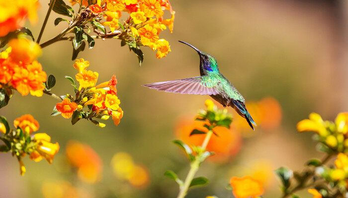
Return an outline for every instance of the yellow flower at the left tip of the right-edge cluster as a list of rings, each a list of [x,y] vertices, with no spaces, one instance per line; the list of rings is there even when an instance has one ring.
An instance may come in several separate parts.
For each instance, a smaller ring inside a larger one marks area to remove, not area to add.
[[[301,120],[299,123],[297,123],[296,127],[299,132],[314,131],[320,136],[325,137],[328,135],[328,131],[324,126],[324,121],[317,113],[311,113],[309,115],[309,119]]]

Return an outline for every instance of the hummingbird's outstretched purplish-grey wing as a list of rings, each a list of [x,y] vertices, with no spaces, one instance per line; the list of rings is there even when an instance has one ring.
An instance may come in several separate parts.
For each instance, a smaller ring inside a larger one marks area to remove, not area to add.
[[[181,80],[152,83],[143,86],[159,91],[180,94],[217,95],[219,94],[218,89],[215,87],[217,83],[217,80],[214,80],[209,76],[197,76]]]

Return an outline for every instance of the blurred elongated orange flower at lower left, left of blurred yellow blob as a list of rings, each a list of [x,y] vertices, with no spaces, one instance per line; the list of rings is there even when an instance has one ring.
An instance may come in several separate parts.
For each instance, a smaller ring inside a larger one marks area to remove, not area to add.
[[[66,154],[70,164],[78,168],[78,176],[81,180],[95,183],[101,179],[101,159],[88,145],[70,141],[66,147]]]

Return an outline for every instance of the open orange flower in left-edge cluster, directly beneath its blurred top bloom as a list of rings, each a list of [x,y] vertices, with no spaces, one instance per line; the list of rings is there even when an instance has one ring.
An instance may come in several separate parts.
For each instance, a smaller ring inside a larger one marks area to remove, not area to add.
[[[22,95],[26,96],[29,91],[36,91],[42,87],[42,82],[37,81],[33,73],[23,68],[16,69],[12,77],[12,86]]]

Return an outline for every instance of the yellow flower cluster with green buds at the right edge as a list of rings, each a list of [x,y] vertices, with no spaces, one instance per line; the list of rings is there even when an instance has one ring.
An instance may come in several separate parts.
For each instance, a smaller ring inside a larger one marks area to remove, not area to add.
[[[322,149],[335,152],[348,152],[348,112],[339,113],[335,122],[324,121],[317,113],[311,113],[309,119],[297,124],[299,132],[316,132],[315,139],[322,144]]]

